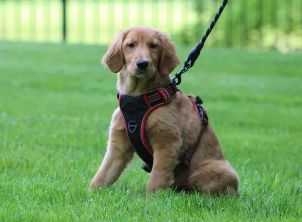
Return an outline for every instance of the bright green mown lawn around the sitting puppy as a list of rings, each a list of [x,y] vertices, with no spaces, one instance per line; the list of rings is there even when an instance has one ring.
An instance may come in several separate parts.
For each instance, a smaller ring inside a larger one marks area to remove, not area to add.
[[[190,49],[177,47],[182,61]],[[301,219],[301,55],[204,48],[180,88],[204,100],[240,195],[166,190],[149,201],[137,157],[112,187],[88,193],[118,105],[105,50],[0,42],[1,221]]]

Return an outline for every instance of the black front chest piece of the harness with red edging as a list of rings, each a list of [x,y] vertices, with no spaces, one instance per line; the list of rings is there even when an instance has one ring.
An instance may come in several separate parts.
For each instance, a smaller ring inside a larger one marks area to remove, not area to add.
[[[117,92],[128,140],[137,155],[144,161],[145,169],[153,168],[153,149],[145,136],[146,120],[155,109],[168,104],[172,100],[172,94],[177,90],[178,88],[173,84],[140,95],[131,96]]]

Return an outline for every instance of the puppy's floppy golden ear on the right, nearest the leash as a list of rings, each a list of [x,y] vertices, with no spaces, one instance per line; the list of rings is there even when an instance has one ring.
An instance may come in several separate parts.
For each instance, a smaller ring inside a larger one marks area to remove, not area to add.
[[[160,33],[163,51],[160,61],[160,73],[169,75],[175,67],[180,65],[179,58],[175,52],[175,45],[166,33]]]

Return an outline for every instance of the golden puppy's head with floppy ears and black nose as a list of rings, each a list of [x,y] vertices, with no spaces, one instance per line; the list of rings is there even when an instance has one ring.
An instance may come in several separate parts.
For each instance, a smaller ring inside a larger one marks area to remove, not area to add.
[[[180,64],[169,36],[145,26],[119,31],[102,62],[112,73],[126,69],[137,78],[169,75]]]

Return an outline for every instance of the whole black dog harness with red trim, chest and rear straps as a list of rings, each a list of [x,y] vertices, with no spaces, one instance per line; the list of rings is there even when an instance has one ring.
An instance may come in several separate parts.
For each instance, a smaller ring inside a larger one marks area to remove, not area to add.
[[[173,94],[178,90],[176,85],[172,84],[166,88],[158,88],[140,95],[117,93],[128,140],[134,151],[142,159],[142,169],[147,173],[150,173],[153,168],[153,149],[148,144],[144,132],[146,120],[155,109],[171,102]],[[183,159],[176,166],[174,174],[178,173],[183,167],[188,167],[202,133],[208,125],[208,117],[206,110],[201,106],[202,103],[203,101],[199,96],[196,97],[196,101],[193,103],[194,109],[201,120],[199,136],[197,141],[186,150]]]

